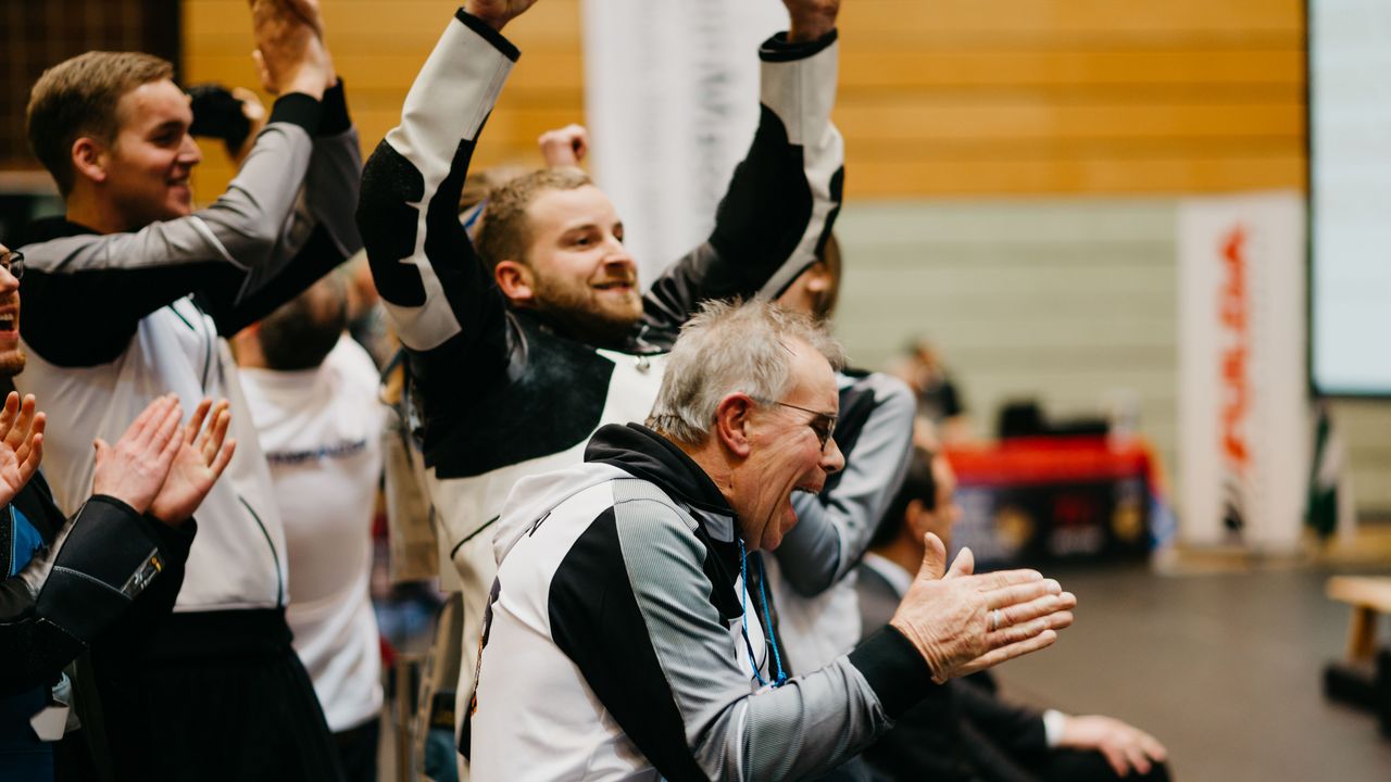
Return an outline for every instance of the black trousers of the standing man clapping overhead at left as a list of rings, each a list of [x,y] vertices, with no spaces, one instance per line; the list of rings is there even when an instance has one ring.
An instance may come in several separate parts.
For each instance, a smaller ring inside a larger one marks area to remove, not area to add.
[[[174,614],[136,660],[96,658],[114,779],[344,778],[282,611]]]

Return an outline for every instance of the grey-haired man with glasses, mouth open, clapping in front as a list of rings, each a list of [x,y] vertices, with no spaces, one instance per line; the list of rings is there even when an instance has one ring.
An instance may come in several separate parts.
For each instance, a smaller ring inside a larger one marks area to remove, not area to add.
[[[944,572],[931,537],[887,628],[787,678],[759,550],[844,459],[840,348],[768,302],[683,328],[647,426],[516,484],[494,537],[473,778],[790,779],[833,768],[932,682],[1043,648],[1075,605],[1031,570]],[[791,685],[791,686],[783,686]]]

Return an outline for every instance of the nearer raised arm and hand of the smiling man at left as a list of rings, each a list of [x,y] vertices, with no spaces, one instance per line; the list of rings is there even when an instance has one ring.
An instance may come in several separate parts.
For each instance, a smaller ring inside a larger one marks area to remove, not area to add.
[[[281,97],[211,206],[129,232],[61,228],[25,248],[21,328],[40,355],[61,366],[113,360],[146,314],[199,289],[241,296],[249,277],[273,274],[298,255],[312,231],[292,217],[323,124],[328,77],[327,56],[307,29],[257,15],[257,46],[277,63]]]

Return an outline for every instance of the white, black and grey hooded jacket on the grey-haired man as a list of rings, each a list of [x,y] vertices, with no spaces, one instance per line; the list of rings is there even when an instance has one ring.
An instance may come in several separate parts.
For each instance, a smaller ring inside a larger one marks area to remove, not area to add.
[[[584,465],[520,481],[495,534],[472,778],[800,779],[933,686],[886,628],[761,687],[751,661],[765,679],[775,664],[736,530],[700,466],[638,424],[605,426]]]

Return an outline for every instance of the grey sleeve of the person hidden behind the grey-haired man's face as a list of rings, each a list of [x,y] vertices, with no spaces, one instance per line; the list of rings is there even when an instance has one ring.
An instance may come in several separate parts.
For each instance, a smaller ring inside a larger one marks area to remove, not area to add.
[[[844,472],[817,497],[793,497],[797,526],[776,551],[783,577],[805,597],[830,589],[860,562],[908,468],[912,391],[881,373],[865,381],[872,387],[874,409],[846,455]]]

